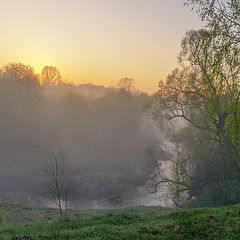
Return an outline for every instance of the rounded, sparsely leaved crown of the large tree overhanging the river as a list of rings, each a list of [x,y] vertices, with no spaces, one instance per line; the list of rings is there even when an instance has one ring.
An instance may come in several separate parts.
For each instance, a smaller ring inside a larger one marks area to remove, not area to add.
[[[205,30],[186,34],[181,65],[159,83],[153,112],[169,121],[183,119],[214,144],[228,144],[229,118],[235,114],[229,106],[239,106],[240,55],[237,48],[219,53],[215,40]],[[240,170],[238,157],[232,159]]]

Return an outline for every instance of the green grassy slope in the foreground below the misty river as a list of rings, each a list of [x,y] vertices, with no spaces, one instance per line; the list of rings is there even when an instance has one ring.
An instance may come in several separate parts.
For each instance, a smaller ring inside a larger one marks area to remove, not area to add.
[[[30,211],[30,210],[25,210]],[[32,209],[32,212],[51,212]],[[34,214],[33,214],[34,215]],[[69,219],[3,224],[1,240],[240,239],[240,205],[173,211],[161,207],[72,211]]]

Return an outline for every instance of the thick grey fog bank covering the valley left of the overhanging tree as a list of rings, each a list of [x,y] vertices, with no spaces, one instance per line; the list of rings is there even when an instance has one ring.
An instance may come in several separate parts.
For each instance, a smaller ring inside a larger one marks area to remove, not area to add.
[[[145,189],[156,159],[166,157],[161,134],[144,117],[150,96],[91,84],[44,86],[31,74],[0,72],[0,200],[51,206],[49,176],[38,164],[51,148],[66,156],[72,208],[111,207],[116,195],[121,206],[158,204]]]

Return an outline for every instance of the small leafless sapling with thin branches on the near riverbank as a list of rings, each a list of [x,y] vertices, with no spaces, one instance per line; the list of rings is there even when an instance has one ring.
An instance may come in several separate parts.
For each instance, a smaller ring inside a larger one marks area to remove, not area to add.
[[[46,156],[39,162],[41,169],[49,177],[47,190],[51,200],[56,204],[63,217],[67,212],[68,194],[71,177],[66,164],[66,156],[63,151],[54,151],[49,148]]]

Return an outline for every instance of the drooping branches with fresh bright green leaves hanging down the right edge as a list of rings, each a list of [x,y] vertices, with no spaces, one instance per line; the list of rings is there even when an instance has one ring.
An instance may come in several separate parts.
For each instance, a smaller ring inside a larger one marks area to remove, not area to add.
[[[205,74],[208,76],[212,100],[206,105],[208,112],[216,113],[218,119],[210,119],[210,134],[222,141],[231,137],[236,151],[240,153],[240,2],[239,0],[188,0],[185,5],[197,8],[197,12],[207,25],[208,48],[213,49]],[[206,45],[200,44],[204,49]],[[206,49],[207,50],[207,49]],[[196,64],[196,61],[194,61]],[[201,64],[204,64],[203,61]],[[210,72],[209,72],[210,69]],[[214,82],[218,83],[216,88]],[[221,117],[222,115],[222,117]],[[217,121],[216,121],[217,120]],[[238,163],[239,165],[239,163]]]

